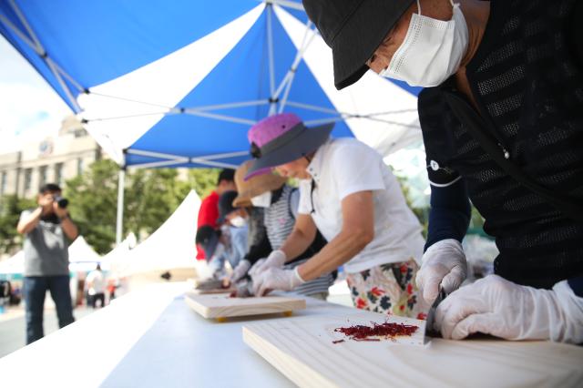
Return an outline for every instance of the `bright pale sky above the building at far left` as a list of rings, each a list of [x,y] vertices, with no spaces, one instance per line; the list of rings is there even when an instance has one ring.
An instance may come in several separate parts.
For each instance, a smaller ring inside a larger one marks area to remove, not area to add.
[[[0,153],[54,137],[71,110],[0,36]]]

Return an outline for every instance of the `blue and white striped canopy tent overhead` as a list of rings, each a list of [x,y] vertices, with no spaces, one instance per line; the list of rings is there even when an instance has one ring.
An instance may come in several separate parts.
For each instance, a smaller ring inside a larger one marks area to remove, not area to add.
[[[238,166],[248,128],[282,111],[384,155],[420,138],[418,89],[372,72],[333,87],[298,0],[0,0],[0,33],[122,168]]]

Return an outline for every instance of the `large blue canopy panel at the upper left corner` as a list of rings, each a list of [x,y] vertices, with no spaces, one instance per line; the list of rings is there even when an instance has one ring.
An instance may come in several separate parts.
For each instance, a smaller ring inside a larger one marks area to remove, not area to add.
[[[48,55],[88,88],[167,56],[258,3],[252,0],[175,0],[168,4],[143,0],[26,0],[16,4]],[[0,12],[21,31],[26,31],[9,4],[1,2]],[[2,34],[48,78],[50,71],[36,54],[31,55],[4,26]],[[55,82],[50,84],[56,86]],[[66,99],[62,92],[59,94]]]

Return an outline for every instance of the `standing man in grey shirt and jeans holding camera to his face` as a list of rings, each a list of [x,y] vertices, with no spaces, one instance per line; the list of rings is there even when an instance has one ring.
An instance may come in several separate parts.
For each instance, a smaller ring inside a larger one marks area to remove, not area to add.
[[[75,321],[69,289],[68,240],[77,238],[61,189],[48,183],[39,189],[38,208],[22,212],[16,230],[25,235],[26,344],[44,336],[46,290],[55,301],[60,328]]]

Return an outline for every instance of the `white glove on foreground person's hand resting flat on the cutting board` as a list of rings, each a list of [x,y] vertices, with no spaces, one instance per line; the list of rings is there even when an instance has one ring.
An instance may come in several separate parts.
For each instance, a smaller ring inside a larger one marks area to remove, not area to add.
[[[506,340],[583,342],[583,298],[567,281],[538,290],[489,275],[453,292],[435,311],[435,328],[460,340],[483,332]]]

